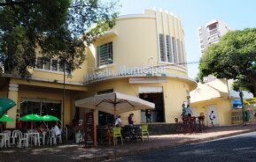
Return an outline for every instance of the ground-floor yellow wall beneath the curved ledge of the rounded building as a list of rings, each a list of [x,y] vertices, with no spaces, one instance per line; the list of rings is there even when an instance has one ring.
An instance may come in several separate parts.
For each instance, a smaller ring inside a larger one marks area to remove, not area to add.
[[[105,82],[96,83],[89,86],[89,91],[84,94],[84,97],[95,95],[99,91],[113,89],[114,92],[121,92],[132,96],[139,95],[139,87],[143,86],[158,86],[163,88],[164,107],[165,107],[165,121],[175,122],[175,118],[181,120],[182,103],[187,100],[187,91],[190,87],[188,84],[173,78],[167,78],[167,83],[161,84],[129,84],[128,78],[114,79]],[[84,112],[84,110],[81,109]],[[128,124],[128,114],[131,112],[121,114],[124,124]],[[135,114],[136,123],[141,122],[140,111],[132,112]],[[82,112],[81,112],[82,114]]]

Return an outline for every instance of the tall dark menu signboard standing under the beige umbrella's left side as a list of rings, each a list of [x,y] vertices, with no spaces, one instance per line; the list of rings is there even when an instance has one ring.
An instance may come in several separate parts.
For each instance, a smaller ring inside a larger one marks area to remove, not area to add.
[[[96,114],[95,112],[85,113],[84,116],[84,144],[85,147],[97,145]]]

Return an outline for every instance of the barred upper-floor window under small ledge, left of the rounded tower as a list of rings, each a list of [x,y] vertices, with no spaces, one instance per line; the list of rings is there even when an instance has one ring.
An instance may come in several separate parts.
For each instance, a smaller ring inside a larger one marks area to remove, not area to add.
[[[112,42],[97,47],[97,67],[112,63]]]

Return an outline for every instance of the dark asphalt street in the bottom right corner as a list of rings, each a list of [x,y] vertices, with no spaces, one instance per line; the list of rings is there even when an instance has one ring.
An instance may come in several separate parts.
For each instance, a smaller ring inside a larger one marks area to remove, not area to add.
[[[256,132],[118,158],[124,161],[256,161]]]

